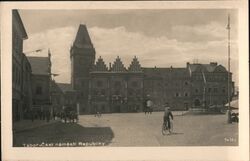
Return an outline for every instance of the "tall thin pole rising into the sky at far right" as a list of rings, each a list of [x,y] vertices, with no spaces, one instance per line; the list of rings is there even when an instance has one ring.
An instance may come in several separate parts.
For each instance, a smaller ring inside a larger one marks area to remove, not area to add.
[[[227,78],[227,83],[228,83],[228,90],[227,90],[227,94],[228,94],[228,118],[227,118],[227,123],[232,123],[231,120],[231,106],[230,106],[230,102],[231,102],[231,85],[230,85],[230,14],[228,14],[228,24],[227,24],[227,30],[228,30],[228,78]]]

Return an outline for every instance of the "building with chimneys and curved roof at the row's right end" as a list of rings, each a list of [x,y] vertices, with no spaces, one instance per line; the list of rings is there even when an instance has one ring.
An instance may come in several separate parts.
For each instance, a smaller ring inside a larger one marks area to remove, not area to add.
[[[225,105],[228,102],[228,89],[230,100],[234,95],[234,82],[230,73],[228,88],[228,71],[216,62],[210,64],[189,64],[187,69],[192,82],[191,100],[194,107]]]

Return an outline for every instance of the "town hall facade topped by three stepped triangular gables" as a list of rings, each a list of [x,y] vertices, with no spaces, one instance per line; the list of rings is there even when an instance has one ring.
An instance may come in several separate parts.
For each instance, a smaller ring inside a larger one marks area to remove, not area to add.
[[[126,69],[119,57],[108,69],[100,57],[90,72],[89,113],[143,109],[143,72],[135,57]]]

